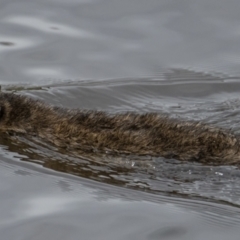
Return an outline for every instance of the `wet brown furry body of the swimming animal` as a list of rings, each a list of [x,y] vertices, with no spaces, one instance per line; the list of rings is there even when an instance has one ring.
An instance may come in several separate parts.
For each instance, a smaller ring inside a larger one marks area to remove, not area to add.
[[[68,110],[11,93],[0,93],[0,131],[37,136],[70,151],[131,153],[209,164],[240,162],[239,138],[223,129],[157,113]]]

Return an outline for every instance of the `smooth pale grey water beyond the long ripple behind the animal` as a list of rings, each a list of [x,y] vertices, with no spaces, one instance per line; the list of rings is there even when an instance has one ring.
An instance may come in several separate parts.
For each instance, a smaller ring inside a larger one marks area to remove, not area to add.
[[[239,76],[239,2],[219,1],[3,3],[0,42],[14,45],[0,45],[1,82],[142,77],[166,68]]]

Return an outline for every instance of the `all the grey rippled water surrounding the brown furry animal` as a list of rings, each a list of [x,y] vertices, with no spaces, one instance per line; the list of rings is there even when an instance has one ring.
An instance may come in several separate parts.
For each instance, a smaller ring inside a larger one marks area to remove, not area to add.
[[[237,0],[0,2],[0,84],[240,133]],[[239,239],[240,170],[0,136],[1,239]]]

